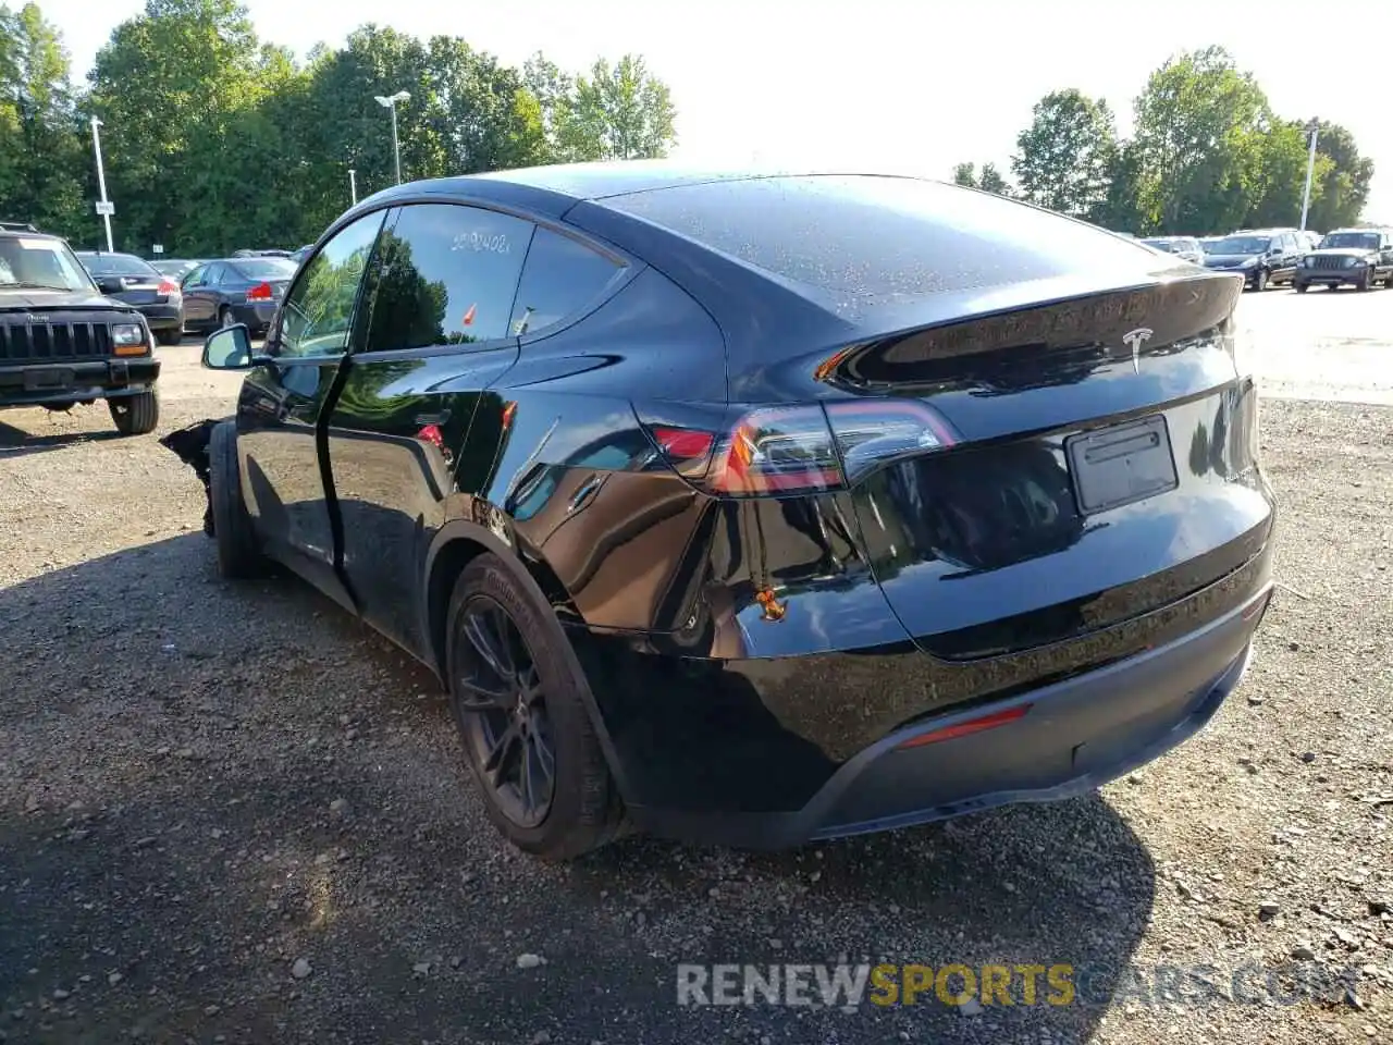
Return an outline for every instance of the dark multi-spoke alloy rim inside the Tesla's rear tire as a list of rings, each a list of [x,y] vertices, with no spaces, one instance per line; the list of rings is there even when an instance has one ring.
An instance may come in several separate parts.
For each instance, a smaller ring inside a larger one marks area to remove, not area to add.
[[[542,679],[521,631],[486,595],[458,616],[454,699],[460,726],[499,810],[521,828],[546,819],[556,744]]]

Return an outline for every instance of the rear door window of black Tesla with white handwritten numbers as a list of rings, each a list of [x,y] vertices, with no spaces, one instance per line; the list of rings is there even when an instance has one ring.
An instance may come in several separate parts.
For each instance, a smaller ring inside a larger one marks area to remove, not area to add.
[[[401,208],[382,234],[366,351],[508,336],[508,312],[535,226],[456,203]]]

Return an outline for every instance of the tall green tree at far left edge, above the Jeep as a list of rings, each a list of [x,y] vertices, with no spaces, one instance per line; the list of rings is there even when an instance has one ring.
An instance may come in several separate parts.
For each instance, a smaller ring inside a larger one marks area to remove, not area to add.
[[[0,6],[0,217],[84,222],[85,152],[59,31],[38,4]]]

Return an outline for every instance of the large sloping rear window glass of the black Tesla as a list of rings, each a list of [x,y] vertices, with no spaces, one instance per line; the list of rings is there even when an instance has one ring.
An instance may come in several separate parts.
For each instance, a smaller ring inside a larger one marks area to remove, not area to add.
[[[1133,241],[919,178],[745,178],[600,202],[820,291],[848,318],[931,294],[1145,265]]]

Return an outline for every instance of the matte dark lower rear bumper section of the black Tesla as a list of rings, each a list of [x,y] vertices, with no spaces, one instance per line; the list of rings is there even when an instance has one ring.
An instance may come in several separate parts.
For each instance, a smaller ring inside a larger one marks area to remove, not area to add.
[[[1089,791],[1183,743],[1241,680],[1272,595],[1166,645],[1010,698],[921,719],[837,769],[790,812],[691,812],[631,805],[656,835],[777,849]],[[993,729],[903,747],[950,726],[1024,709]]]

